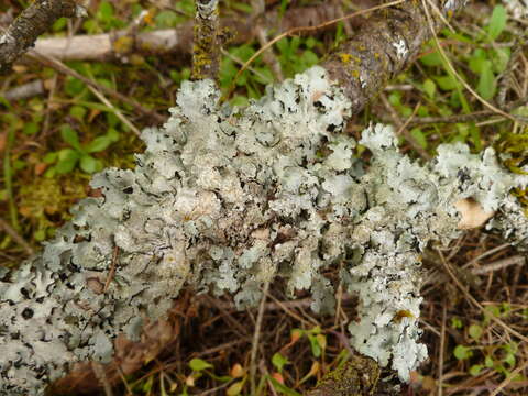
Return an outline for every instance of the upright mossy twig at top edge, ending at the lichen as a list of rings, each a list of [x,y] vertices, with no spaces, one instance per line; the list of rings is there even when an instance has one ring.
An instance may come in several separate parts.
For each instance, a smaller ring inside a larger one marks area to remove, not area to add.
[[[220,65],[218,0],[197,0],[191,79],[218,79]]]

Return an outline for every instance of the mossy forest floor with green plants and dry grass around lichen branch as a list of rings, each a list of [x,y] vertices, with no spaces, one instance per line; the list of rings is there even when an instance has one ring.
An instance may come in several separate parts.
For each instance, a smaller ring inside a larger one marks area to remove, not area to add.
[[[140,31],[178,28],[194,15],[190,0],[87,3],[89,18],[80,23],[59,20],[47,36],[125,29],[143,10],[147,13],[134,28]],[[26,4],[3,1],[0,25],[6,26]],[[346,0],[334,4],[341,4],[344,14],[374,6]],[[446,28],[438,36],[447,58],[433,41],[427,43],[414,65],[354,116],[346,133],[358,138],[371,120],[382,121],[402,131],[402,150],[417,161],[433,156],[441,143],[460,141],[474,152],[496,147],[505,166],[514,172],[524,166],[528,161],[526,124],[482,113],[490,103],[507,109],[522,98],[526,105],[528,97],[528,19],[497,4],[470,3],[450,22],[453,31]],[[266,0],[266,10],[279,15],[318,6],[320,1]],[[251,13],[248,0],[221,3],[222,18],[249,19]],[[279,78],[277,70],[290,77],[316,64],[365,21],[352,19],[324,32],[285,37],[273,46],[273,54],[258,57],[243,72],[234,86],[241,64],[262,43],[242,40],[228,44],[221,62],[221,89],[229,92],[234,88],[230,100],[243,106],[246,98],[263,95],[265,84]],[[277,33],[267,34],[271,40]],[[118,44],[127,47],[125,41]],[[174,105],[179,84],[189,76],[190,54],[148,55],[120,48],[106,62],[65,62],[69,72],[56,64],[24,62],[0,79],[0,265],[16,266],[38,251],[41,242],[70,218],[68,208],[94,194],[88,186],[91,174],[108,166],[133,167],[133,153],[144,148],[134,131],[167,118],[166,109]],[[94,80],[94,86],[73,77],[72,70]],[[466,90],[461,79],[484,102]],[[40,89],[30,96],[6,99],[15,94],[14,88],[35,81]],[[112,91],[134,99],[142,109],[117,99]],[[515,111],[528,117],[526,106]],[[358,154],[362,154],[361,147]],[[513,194],[527,201],[526,191]],[[447,265],[457,268],[454,277],[446,271]],[[336,267],[324,275],[339,285],[338,272]],[[474,230],[449,246],[429,246],[424,254],[424,276],[420,322],[430,359],[414,373],[410,384],[402,386],[402,395],[528,395],[528,345],[507,331],[528,334],[526,255],[485,230]],[[353,353],[344,324],[353,320],[358,301],[337,289],[337,315],[320,317],[310,311],[307,295],[290,300],[282,285],[271,287],[258,329],[260,395],[302,394]],[[492,317],[499,318],[506,330]],[[165,326],[156,328],[151,341],[141,346],[134,363],[139,369],[118,377],[113,395],[250,394],[256,321],[257,309],[237,311],[229,297],[184,293]],[[110,391],[102,389],[108,378],[88,378],[77,375],[63,385],[69,386],[69,394],[109,395]]]

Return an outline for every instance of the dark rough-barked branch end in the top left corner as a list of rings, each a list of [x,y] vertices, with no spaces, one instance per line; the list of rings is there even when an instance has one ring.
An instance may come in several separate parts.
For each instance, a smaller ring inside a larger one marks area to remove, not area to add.
[[[11,70],[12,64],[33,46],[36,38],[57,19],[84,14],[85,9],[72,0],[35,0],[0,35],[0,74]]]

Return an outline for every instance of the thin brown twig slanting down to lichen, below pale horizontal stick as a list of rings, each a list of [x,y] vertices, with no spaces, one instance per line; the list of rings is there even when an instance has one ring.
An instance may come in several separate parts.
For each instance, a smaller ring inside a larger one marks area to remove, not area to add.
[[[158,114],[157,112],[155,112],[153,110],[145,109],[142,105],[136,102],[134,99],[131,99],[131,98],[116,91],[112,88],[108,88],[106,86],[102,86],[102,85],[96,82],[95,80],[92,80],[91,78],[82,76],[81,74],[79,74],[79,73],[75,72],[74,69],[69,68],[68,66],[66,66],[64,63],[62,63],[58,59],[55,59],[55,58],[50,57],[47,55],[38,54],[34,51],[32,51],[30,54],[31,54],[31,56],[33,56],[37,61],[46,64],[50,67],[53,67],[57,72],[61,72],[61,73],[64,73],[68,76],[75,77],[75,78],[81,80],[82,82],[85,82],[86,85],[91,86],[94,88],[97,88],[99,91],[102,91],[107,95],[110,95],[111,97],[113,97],[118,100],[121,100],[122,102],[124,102],[127,105],[132,106],[135,110],[140,111],[141,113],[143,113],[145,116],[152,117],[157,122],[165,122],[166,121],[166,117],[163,117],[163,116]]]

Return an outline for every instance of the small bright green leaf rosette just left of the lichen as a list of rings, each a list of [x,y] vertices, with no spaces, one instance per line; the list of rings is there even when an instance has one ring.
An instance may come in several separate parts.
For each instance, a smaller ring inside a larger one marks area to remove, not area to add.
[[[69,145],[57,152],[47,153],[43,161],[46,164],[54,164],[46,170],[47,177],[73,172],[77,166],[85,173],[92,174],[102,169],[102,162],[91,154],[106,150],[110,144],[119,140],[119,133],[110,128],[101,136],[97,136],[87,144],[80,144],[77,131],[68,124],[61,125],[61,136]]]

